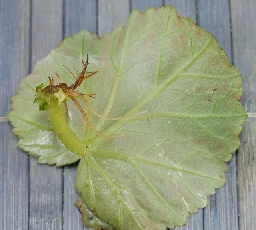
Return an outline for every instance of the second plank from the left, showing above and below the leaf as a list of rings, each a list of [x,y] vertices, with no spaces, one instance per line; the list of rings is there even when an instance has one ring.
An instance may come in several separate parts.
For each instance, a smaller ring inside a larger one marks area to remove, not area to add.
[[[32,1],[32,67],[62,40],[62,0]],[[62,229],[62,168],[30,158],[31,230]]]

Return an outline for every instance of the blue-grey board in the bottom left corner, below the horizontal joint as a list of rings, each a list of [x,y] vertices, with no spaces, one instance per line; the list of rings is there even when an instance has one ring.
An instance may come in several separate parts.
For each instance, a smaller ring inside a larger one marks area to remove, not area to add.
[[[28,155],[9,123],[0,123],[0,133],[0,229],[28,229]]]

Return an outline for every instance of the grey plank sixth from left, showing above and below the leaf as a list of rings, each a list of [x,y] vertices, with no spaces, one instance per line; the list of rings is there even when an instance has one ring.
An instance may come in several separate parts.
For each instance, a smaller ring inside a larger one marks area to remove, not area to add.
[[[165,0],[164,5],[172,5],[177,13],[181,16],[191,18],[196,22],[196,1],[195,0]],[[176,227],[175,230],[202,230],[203,226],[203,210],[198,210],[197,213],[191,214],[185,226]]]

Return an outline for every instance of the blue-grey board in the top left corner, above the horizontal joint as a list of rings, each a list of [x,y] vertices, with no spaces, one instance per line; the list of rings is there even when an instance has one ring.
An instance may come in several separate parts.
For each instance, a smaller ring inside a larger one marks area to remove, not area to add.
[[[0,2],[0,117],[6,117],[10,97],[29,72],[29,5],[29,0]]]

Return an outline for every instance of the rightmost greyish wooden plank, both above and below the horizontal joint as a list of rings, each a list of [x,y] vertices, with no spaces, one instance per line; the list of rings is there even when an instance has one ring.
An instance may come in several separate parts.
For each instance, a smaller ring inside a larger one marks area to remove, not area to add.
[[[233,60],[242,74],[242,102],[256,112],[256,1],[231,0]],[[256,119],[243,126],[238,150],[238,201],[240,230],[256,229]]]

